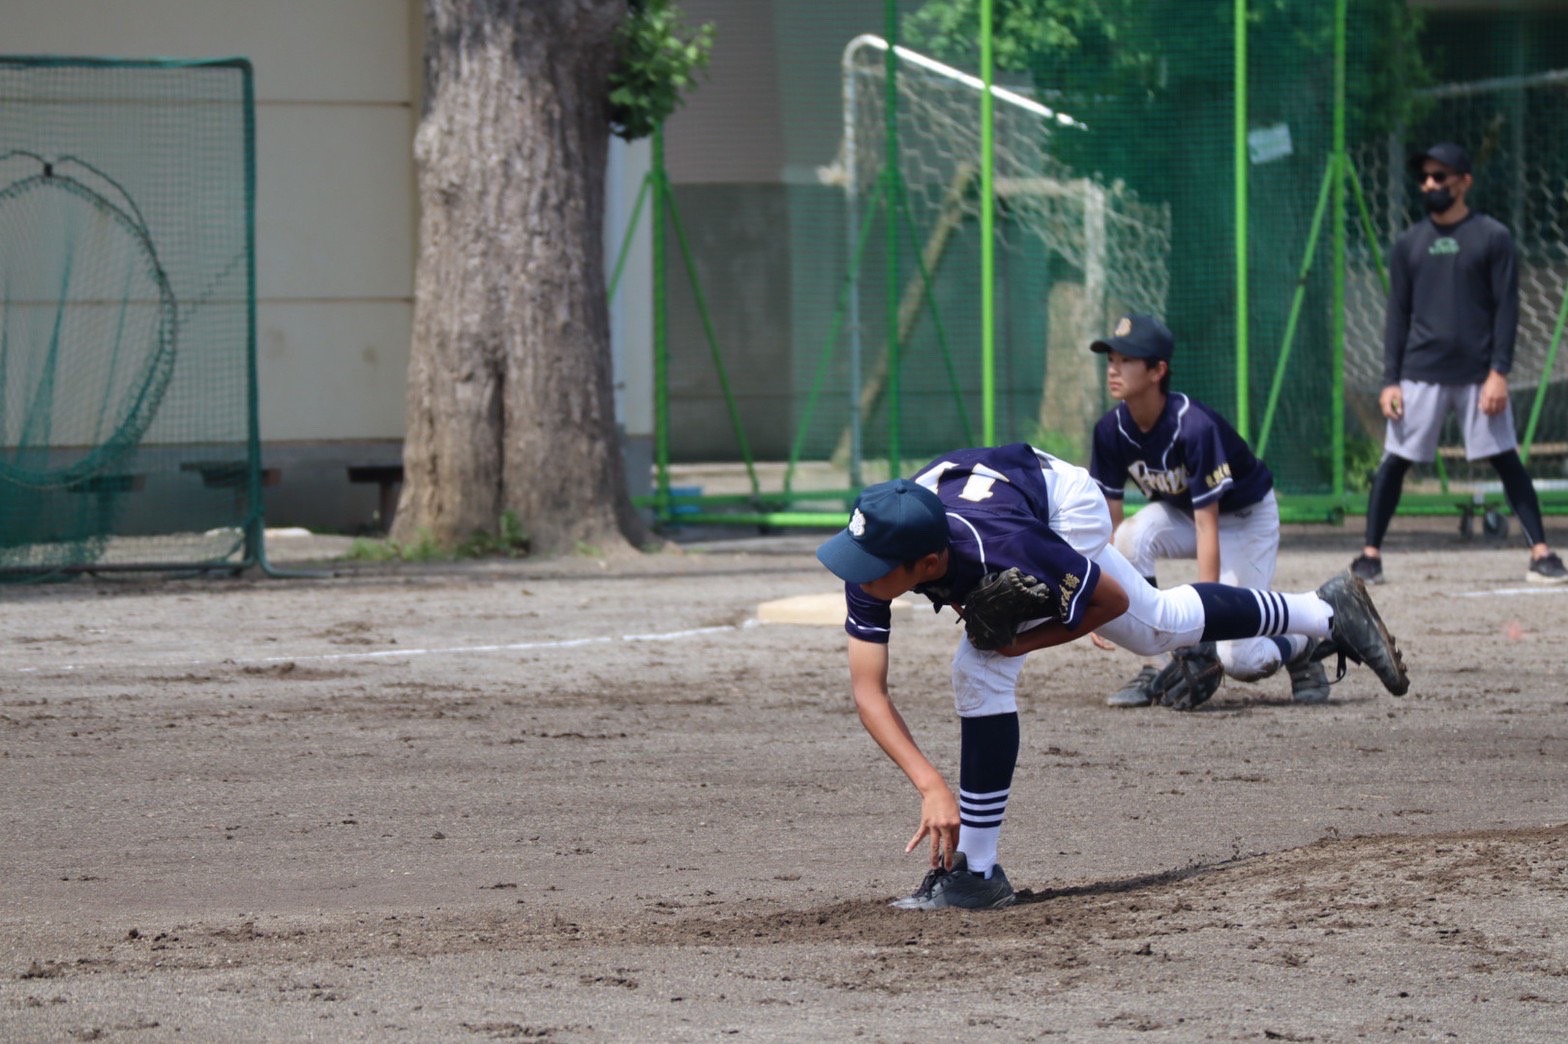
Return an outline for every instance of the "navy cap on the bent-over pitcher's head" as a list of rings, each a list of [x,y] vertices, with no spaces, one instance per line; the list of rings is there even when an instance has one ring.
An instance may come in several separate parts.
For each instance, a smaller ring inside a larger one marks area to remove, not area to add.
[[[817,549],[817,561],[840,580],[870,583],[947,541],[947,508],[938,495],[895,478],[861,491],[848,527]]]

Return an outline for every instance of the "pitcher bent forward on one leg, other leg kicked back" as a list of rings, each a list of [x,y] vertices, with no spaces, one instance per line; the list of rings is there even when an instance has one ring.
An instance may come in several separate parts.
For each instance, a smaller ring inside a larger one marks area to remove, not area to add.
[[[1410,688],[1392,635],[1348,574],[1279,594],[1223,583],[1149,586],[1110,546],[1110,511],[1088,472],[1014,444],[955,450],[913,480],[866,488],[848,527],[817,549],[844,580],[850,688],[861,724],[920,792],[905,851],[930,842],[930,872],[903,909],[1000,908],[1013,886],[997,839],[1018,762],[1024,654],[1091,632],[1142,655],[1200,641],[1305,635],[1319,657],[1364,663],[1396,696]],[[887,693],[894,599],[953,607],[961,726],[958,798],[920,752]]]

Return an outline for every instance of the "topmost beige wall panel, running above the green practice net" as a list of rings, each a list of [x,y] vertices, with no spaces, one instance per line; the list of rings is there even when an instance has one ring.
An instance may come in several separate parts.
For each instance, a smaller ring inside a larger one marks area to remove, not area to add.
[[[411,0],[5,0],[6,53],[213,58],[256,66],[256,99],[405,102]],[[417,42],[417,41],[416,41]]]

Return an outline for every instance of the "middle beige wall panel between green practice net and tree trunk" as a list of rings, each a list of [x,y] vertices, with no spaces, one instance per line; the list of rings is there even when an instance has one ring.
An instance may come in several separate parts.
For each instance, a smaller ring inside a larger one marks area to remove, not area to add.
[[[414,293],[412,133],[406,108],[257,108],[257,296]]]

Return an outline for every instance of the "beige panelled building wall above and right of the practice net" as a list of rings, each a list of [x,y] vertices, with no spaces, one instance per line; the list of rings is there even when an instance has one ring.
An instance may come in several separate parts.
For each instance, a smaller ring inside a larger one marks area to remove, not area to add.
[[[256,69],[257,372],[268,520],[354,528],[350,462],[401,458],[416,257],[417,0],[6,0],[8,53]]]

